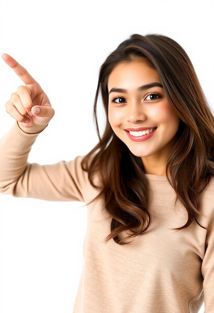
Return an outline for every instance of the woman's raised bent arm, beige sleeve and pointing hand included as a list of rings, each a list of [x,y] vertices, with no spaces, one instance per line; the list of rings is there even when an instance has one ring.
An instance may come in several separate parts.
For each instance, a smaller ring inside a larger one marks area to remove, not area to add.
[[[54,110],[26,69],[8,54],[2,58],[24,85],[6,102],[7,112],[18,121],[19,127],[15,122],[0,138],[0,192],[51,201],[83,201],[81,190],[88,185],[88,179],[81,170],[81,158],[44,165],[27,161],[38,132],[46,127]]]

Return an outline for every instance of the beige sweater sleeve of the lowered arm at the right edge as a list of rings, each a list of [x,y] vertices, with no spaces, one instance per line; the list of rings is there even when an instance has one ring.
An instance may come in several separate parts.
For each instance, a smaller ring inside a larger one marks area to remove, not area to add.
[[[214,179],[212,179],[213,181]],[[204,313],[212,313],[214,309],[214,183],[205,194],[206,239],[205,253],[201,265],[203,275]]]

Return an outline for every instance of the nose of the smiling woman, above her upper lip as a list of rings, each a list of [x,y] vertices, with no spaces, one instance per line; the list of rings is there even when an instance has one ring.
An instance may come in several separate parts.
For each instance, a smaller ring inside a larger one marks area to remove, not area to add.
[[[127,106],[127,121],[137,123],[146,119],[141,101],[132,101]]]

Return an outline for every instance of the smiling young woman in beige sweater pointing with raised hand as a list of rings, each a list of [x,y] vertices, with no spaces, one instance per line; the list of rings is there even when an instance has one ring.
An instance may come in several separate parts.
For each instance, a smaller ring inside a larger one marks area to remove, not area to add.
[[[214,118],[193,66],[174,40],[133,34],[100,67],[106,126],[84,157],[51,165],[27,156],[54,111],[22,79],[6,103],[0,190],[87,204],[84,266],[73,312],[214,311]],[[96,119],[97,121],[97,119]],[[60,183],[59,183],[60,182]]]

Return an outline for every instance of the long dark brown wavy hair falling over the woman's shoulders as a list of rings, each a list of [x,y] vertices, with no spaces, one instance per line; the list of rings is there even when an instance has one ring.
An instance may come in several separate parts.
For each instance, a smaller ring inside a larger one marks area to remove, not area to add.
[[[108,77],[120,62],[146,58],[157,70],[164,92],[180,122],[177,141],[172,148],[166,173],[174,188],[176,199],[185,207],[186,228],[200,214],[200,194],[214,175],[214,117],[200,87],[196,73],[183,48],[173,39],[158,35],[132,34],[109,54],[100,67],[94,99],[94,119],[99,142],[84,156],[82,169],[104,198],[105,209],[111,216],[110,233],[106,240],[119,238],[125,231],[127,238],[142,234],[150,225],[148,186],[140,157],[133,155],[113,133],[108,119]],[[106,125],[100,135],[97,102],[101,95]],[[98,173],[101,185],[94,183]],[[197,221],[197,220],[196,220]]]

